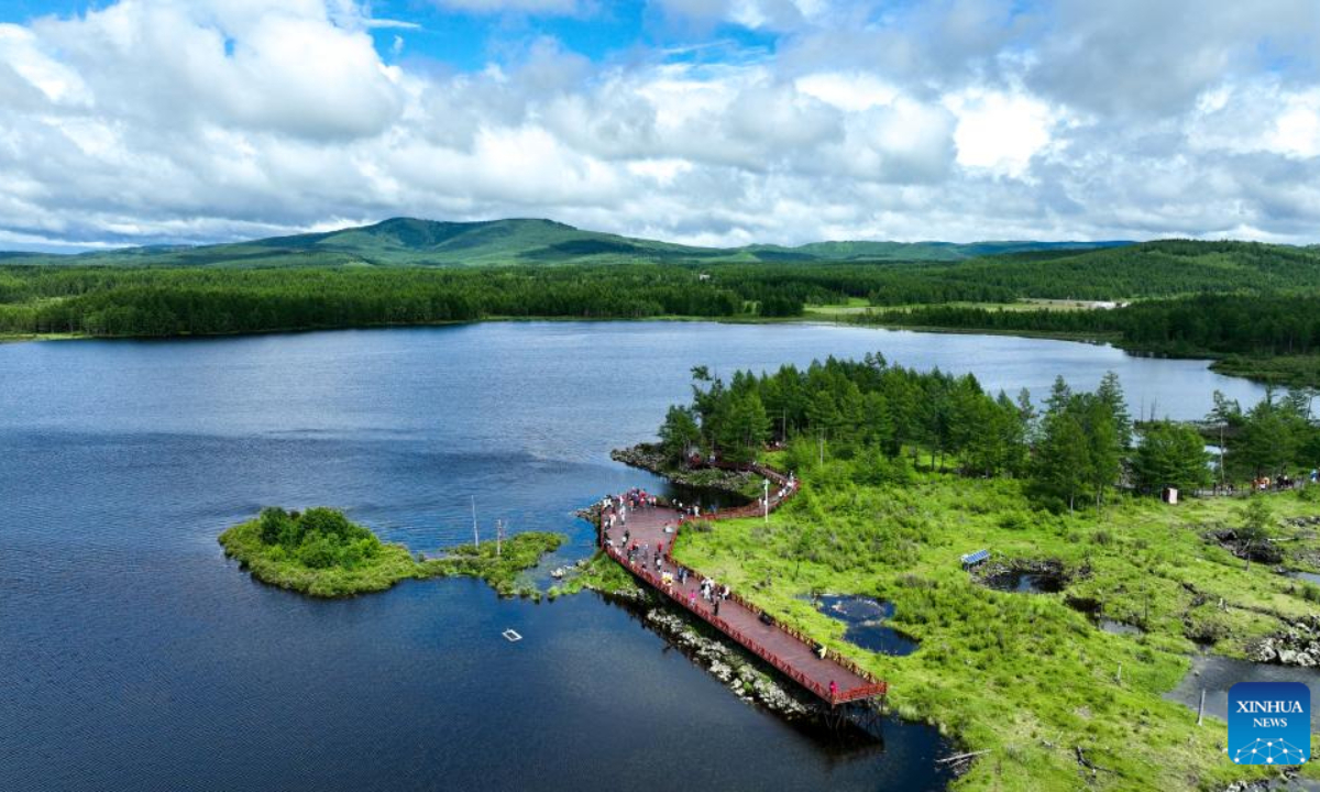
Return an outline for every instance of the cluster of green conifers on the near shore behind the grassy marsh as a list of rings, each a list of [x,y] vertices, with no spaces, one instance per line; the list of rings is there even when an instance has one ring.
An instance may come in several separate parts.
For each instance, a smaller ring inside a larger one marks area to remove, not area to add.
[[[671,407],[660,428],[671,462],[693,454],[747,461],[766,445],[788,462],[853,463],[859,484],[903,482],[921,465],[969,478],[1016,478],[1040,506],[1102,508],[1115,490],[1158,494],[1214,483],[1307,475],[1320,465],[1320,422],[1311,395],[1294,391],[1243,409],[1216,395],[1199,424],[1134,422],[1118,376],[1094,392],[1057,379],[1043,404],[1026,391],[982,389],[972,375],[919,372],[882,355],[826,359],[807,370],[737,372],[729,383],[693,370],[693,400]],[[1205,437],[1222,440],[1212,467]],[[1217,479],[1217,480],[1216,480]]]

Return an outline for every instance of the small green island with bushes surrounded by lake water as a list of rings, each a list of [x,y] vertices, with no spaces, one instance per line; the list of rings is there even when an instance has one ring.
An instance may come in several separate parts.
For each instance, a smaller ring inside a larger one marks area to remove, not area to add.
[[[222,533],[219,541],[224,554],[238,558],[256,579],[310,597],[352,597],[384,591],[408,578],[451,576],[482,578],[502,597],[539,597],[535,586],[519,583],[519,576],[558,549],[564,537],[517,533],[503,543],[461,545],[444,557],[425,558],[401,544],[380,541],[333,508],[269,507]]]

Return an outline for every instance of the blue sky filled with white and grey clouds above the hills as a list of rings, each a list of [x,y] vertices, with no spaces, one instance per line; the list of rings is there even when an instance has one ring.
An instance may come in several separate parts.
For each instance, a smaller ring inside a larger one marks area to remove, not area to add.
[[[0,3],[0,248],[1320,227],[1313,0]]]

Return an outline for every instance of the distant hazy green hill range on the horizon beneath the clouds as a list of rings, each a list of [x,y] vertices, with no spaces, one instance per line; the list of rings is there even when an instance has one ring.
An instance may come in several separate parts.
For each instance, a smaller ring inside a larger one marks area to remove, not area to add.
[[[79,255],[4,253],[5,264],[170,267],[482,267],[614,261],[962,261],[986,255],[1094,249],[1123,242],[816,242],[706,248],[583,231],[543,219],[470,223],[393,218],[374,226],[198,247]]]

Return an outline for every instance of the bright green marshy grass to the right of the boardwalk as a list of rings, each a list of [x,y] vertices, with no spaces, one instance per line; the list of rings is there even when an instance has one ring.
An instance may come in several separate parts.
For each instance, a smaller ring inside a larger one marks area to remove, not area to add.
[[[804,478],[768,527],[685,532],[676,553],[888,680],[899,714],[989,748],[956,788],[1172,791],[1262,777],[1224,759],[1224,723],[1197,727],[1195,713],[1160,696],[1189,667],[1188,635],[1218,635],[1216,651],[1241,656],[1280,619],[1315,610],[1295,581],[1262,565],[1247,572],[1203,539],[1236,523],[1239,502],[1122,500],[1098,517],[1060,516],[1032,511],[1012,480],[923,474],[913,486],[859,487],[833,462]],[[1280,516],[1320,511],[1291,495],[1272,500]],[[801,552],[804,531],[817,539]],[[1286,546],[1300,566],[1316,540]],[[1064,594],[994,591],[960,566],[982,548],[997,560],[1056,560],[1076,577]],[[888,657],[846,643],[843,624],[801,599],[810,591],[892,601],[894,626],[921,648]],[[1147,634],[1105,634],[1065,597],[1100,601],[1106,616]],[[1078,746],[1111,772],[1084,781]]]

